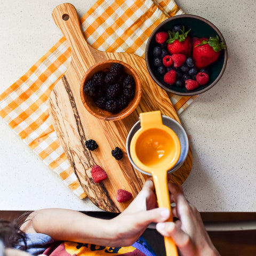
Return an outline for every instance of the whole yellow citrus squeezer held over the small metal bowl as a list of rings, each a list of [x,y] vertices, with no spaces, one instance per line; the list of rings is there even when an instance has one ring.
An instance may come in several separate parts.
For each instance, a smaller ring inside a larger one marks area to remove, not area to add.
[[[133,135],[130,154],[141,170],[153,177],[159,207],[171,210],[167,171],[178,162],[180,141],[175,132],[162,122],[161,111],[140,114],[141,128]],[[172,215],[168,221],[172,221]],[[164,237],[167,256],[178,256],[171,237]]]

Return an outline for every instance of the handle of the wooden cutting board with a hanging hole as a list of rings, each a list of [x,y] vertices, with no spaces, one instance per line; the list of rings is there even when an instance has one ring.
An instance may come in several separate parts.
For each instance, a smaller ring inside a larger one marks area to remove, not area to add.
[[[75,6],[69,3],[58,5],[52,11],[52,18],[69,42],[71,48],[71,63],[75,66],[79,65],[79,63],[84,63],[87,68],[94,65],[95,61],[89,49],[89,45],[85,40]],[[85,56],[86,61],[84,61]],[[78,75],[82,78],[84,71],[79,67],[76,69]]]

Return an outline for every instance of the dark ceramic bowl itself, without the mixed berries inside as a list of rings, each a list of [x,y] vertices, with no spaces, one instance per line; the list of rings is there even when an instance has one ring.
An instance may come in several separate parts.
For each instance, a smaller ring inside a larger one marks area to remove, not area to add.
[[[153,55],[153,49],[155,46],[159,46],[155,42],[155,35],[160,31],[167,32],[168,30],[172,30],[173,26],[175,25],[184,25],[186,30],[190,28],[190,37],[210,38],[211,36],[218,35],[220,39],[222,39],[223,42],[225,43],[225,39],[223,38],[219,29],[215,27],[210,21],[191,14],[181,14],[174,16],[170,19],[163,21],[160,25],[158,25],[148,39],[145,57],[149,74],[159,86],[173,94],[190,96],[203,93],[211,89],[211,87],[213,87],[223,75],[227,65],[227,49],[222,50],[219,59],[209,66],[211,74],[209,77],[210,79],[206,85],[199,86],[197,89],[193,91],[189,91],[185,87],[176,87],[174,85],[170,86],[164,82],[163,75],[160,75],[157,71],[157,68],[154,66],[154,59],[156,57]]]

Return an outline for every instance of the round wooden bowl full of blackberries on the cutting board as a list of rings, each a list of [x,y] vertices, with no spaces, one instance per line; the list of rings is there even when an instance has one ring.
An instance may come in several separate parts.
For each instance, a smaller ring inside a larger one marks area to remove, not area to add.
[[[105,121],[117,121],[137,108],[141,98],[141,82],[127,63],[106,60],[86,71],[80,95],[90,114]]]

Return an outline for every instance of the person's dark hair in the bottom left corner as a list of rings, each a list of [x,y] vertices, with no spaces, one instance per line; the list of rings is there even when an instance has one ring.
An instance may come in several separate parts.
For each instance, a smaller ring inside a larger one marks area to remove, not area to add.
[[[26,234],[20,230],[20,227],[30,213],[26,212],[14,221],[0,220],[0,240],[6,248],[14,248],[23,242],[25,246],[21,250],[27,250]]]

